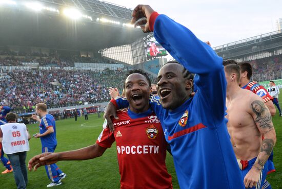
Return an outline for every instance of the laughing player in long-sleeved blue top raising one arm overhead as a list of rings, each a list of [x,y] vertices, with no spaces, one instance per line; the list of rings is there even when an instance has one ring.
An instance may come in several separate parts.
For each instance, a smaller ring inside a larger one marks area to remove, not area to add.
[[[160,100],[150,102],[171,146],[180,187],[245,188],[226,127],[223,59],[189,29],[150,6],[138,5],[132,16],[133,23],[141,20],[137,25],[144,32],[154,31],[155,39],[182,64],[168,63],[159,70]],[[193,99],[191,73],[197,85]],[[123,99],[109,104],[110,109],[125,105]],[[116,114],[107,111],[109,123],[109,115]]]

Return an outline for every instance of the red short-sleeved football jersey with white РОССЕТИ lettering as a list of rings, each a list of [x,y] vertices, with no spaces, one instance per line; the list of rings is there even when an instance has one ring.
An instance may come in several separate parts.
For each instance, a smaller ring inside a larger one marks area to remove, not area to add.
[[[172,188],[165,161],[167,143],[156,115],[129,109],[118,110],[117,115],[119,120],[112,120],[114,133],[104,123],[96,143],[110,148],[116,141],[120,188]]]

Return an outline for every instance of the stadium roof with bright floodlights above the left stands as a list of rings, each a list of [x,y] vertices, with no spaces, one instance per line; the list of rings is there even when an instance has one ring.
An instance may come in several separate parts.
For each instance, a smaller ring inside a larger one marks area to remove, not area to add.
[[[127,27],[132,10],[122,6],[96,0],[30,1],[41,7],[13,1],[17,3],[0,5],[2,46],[98,51],[146,36],[140,29]],[[79,19],[63,14],[70,6],[79,11]]]

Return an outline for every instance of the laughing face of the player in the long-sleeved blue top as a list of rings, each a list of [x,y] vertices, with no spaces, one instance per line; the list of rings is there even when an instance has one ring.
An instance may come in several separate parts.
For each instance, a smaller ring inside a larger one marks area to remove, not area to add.
[[[182,65],[168,63],[160,68],[157,76],[157,93],[165,109],[173,110],[189,99],[191,91],[187,90],[188,88],[187,80],[183,77]]]

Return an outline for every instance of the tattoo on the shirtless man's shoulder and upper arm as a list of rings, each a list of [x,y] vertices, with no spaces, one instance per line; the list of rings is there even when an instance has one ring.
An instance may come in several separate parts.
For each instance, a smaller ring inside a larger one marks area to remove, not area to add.
[[[253,101],[251,103],[252,110],[256,114],[255,122],[259,124],[261,129],[272,129],[272,118],[269,110],[262,101]]]

